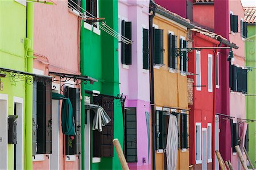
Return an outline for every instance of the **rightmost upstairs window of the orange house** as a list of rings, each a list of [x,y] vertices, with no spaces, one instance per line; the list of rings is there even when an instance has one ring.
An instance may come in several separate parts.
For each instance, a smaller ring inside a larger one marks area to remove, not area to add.
[[[185,38],[180,38],[180,48],[187,48],[187,41]],[[188,60],[187,60],[187,51],[180,52],[180,71],[187,72],[188,69]]]

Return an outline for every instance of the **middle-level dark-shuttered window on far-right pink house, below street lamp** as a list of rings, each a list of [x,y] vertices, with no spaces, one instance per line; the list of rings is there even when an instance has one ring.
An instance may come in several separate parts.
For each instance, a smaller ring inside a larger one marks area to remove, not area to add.
[[[247,93],[247,69],[230,64],[229,87],[233,92]]]

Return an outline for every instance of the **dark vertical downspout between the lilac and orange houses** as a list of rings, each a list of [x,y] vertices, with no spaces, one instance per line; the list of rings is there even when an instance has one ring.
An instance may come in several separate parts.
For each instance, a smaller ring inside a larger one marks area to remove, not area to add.
[[[153,18],[155,16],[155,3],[150,0],[149,34],[150,34],[150,107],[152,115],[152,169],[155,170],[155,97],[154,97],[154,36]]]

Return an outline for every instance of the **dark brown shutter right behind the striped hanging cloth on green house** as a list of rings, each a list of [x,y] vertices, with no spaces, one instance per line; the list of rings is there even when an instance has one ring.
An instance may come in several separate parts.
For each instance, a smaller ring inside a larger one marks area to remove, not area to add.
[[[111,119],[106,126],[102,127],[102,157],[113,157],[114,104],[109,103],[109,100],[111,100],[111,98],[102,97],[102,107]]]

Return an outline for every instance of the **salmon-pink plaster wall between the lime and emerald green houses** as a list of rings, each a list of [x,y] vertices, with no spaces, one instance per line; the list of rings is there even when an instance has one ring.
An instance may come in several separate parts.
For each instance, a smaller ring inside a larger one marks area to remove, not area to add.
[[[77,16],[69,11],[68,1],[56,1],[55,3],[56,5],[35,3],[34,56],[36,59],[34,59],[34,68],[44,71],[46,75],[49,71],[79,74],[80,38]],[[61,108],[60,112],[56,114],[60,113]],[[59,125],[61,125],[61,121]],[[65,161],[63,138],[60,126],[60,169],[79,168],[77,157],[75,161]],[[49,160],[45,157],[44,161],[34,162],[33,166],[34,169],[48,169],[49,164]]]

